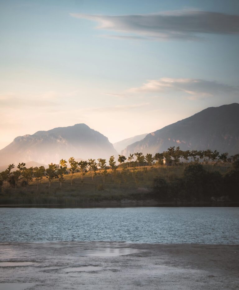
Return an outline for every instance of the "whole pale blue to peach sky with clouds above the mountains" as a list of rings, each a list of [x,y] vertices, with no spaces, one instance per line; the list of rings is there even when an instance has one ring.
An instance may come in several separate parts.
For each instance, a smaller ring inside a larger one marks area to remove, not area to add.
[[[114,143],[239,102],[238,0],[0,0],[0,149],[85,123]]]

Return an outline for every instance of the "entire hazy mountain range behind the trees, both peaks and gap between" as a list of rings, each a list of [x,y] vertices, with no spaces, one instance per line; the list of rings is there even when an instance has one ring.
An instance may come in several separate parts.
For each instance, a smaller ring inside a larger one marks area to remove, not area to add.
[[[131,144],[132,143],[132,144]],[[115,148],[114,148],[115,146]],[[38,131],[16,137],[0,150],[0,166],[30,161],[59,164],[60,159],[109,159],[111,155],[129,156],[142,152],[155,154],[171,146],[181,150],[218,150],[229,155],[239,153],[239,104],[207,108],[193,116],[150,134],[136,135],[111,144],[107,137],[86,124]],[[126,148],[124,148],[126,147]]]

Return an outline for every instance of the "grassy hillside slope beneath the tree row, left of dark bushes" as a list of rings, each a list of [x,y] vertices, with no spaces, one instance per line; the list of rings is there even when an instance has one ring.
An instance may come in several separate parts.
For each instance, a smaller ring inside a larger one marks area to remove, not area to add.
[[[168,166],[164,168],[162,165],[157,170],[151,167],[150,171],[147,167],[131,167],[127,168],[124,164],[121,171],[116,170],[115,174],[110,174],[107,170],[105,182],[103,182],[99,171],[96,172],[94,180],[91,179],[91,174],[87,172],[81,180],[80,173],[75,173],[73,184],[71,186],[71,176],[67,174],[64,176],[62,187],[58,179],[54,179],[49,187],[49,180],[44,177],[40,181],[40,186],[37,189],[37,182],[33,180],[29,187],[10,187],[7,184],[6,188],[0,192],[0,204],[62,204],[64,206],[79,206],[84,204],[98,203],[101,201],[120,201],[122,199],[129,200],[146,200],[152,199],[150,190],[153,186],[155,177],[162,177],[170,181],[176,177],[183,175],[183,165]],[[205,170],[219,171],[225,174],[231,169],[231,165],[204,165]],[[143,191],[148,189],[149,192]]]

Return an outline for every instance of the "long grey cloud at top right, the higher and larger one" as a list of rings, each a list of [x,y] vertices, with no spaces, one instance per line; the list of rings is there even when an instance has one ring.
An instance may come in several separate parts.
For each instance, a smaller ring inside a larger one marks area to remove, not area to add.
[[[197,40],[202,34],[238,34],[239,15],[179,10],[140,15],[88,15],[70,13],[72,17],[99,23],[98,29],[133,33],[135,36],[109,35],[119,39]]]

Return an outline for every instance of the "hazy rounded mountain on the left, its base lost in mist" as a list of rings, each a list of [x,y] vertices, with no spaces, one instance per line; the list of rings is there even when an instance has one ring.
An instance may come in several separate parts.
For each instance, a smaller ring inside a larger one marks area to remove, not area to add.
[[[108,138],[86,124],[38,131],[33,135],[16,137],[0,150],[0,165],[34,160],[41,164],[59,164],[60,159],[108,158],[116,155]]]

